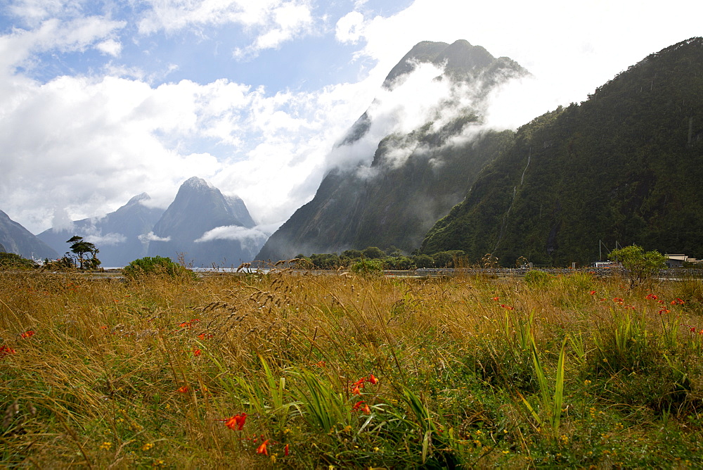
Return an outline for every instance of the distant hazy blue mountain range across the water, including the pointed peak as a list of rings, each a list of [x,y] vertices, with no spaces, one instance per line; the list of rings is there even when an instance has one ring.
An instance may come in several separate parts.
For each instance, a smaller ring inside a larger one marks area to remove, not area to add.
[[[149,199],[142,193],[105,217],[77,220],[38,238],[63,253],[70,237],[82,236],[98,247],[103,267],[121,267],[144,256],[229,267],[251,260],[264,243],[263,234],[251,231],[254,220],[244,201],[224,196],[204,179],[184,182],[167,210],[149,208]]]

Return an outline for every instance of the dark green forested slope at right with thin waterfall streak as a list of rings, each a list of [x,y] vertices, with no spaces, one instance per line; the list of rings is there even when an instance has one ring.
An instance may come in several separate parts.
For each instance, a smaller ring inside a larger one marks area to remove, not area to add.
[[[600,241],[703,256],[703,39],[622,72],[581,105],[519,129],[425,253],[543,265],[598,259]]]

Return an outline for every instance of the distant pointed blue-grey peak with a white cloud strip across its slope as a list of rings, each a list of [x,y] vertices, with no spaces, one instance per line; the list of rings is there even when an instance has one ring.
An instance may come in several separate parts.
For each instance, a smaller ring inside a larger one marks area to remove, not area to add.
[[[150,256],[182,254],[195,267],[228,267],[252,260],[262,246],[265,236],[254,225],[244,201],[193,177],[143,239]]]

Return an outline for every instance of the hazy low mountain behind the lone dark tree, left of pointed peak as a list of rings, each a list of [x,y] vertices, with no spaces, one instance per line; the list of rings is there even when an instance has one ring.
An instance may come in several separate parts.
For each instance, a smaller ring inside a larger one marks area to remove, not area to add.
[[[141,193],[105,217],[76,220],[70,227],[48,229],[37,236],[59,253],[68,250],[66,241],[72,236],[82,236],[100,250],[98,258],[104,267],[124,266],[146,256],[148,243],[143,236],[164,212],[144,205],[149,199],[147,193]]]

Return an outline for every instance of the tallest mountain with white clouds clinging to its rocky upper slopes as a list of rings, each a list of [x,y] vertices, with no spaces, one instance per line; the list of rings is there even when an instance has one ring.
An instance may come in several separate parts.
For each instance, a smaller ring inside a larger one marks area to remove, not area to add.
[[[313,200],[256,259],[366,246],[418,248],[482,167],[511,144],[512,132],[486,130],[483,116],[491,91],[526,75],[515,61],[463,40],[414,46],[330,153],[336,167]]]

